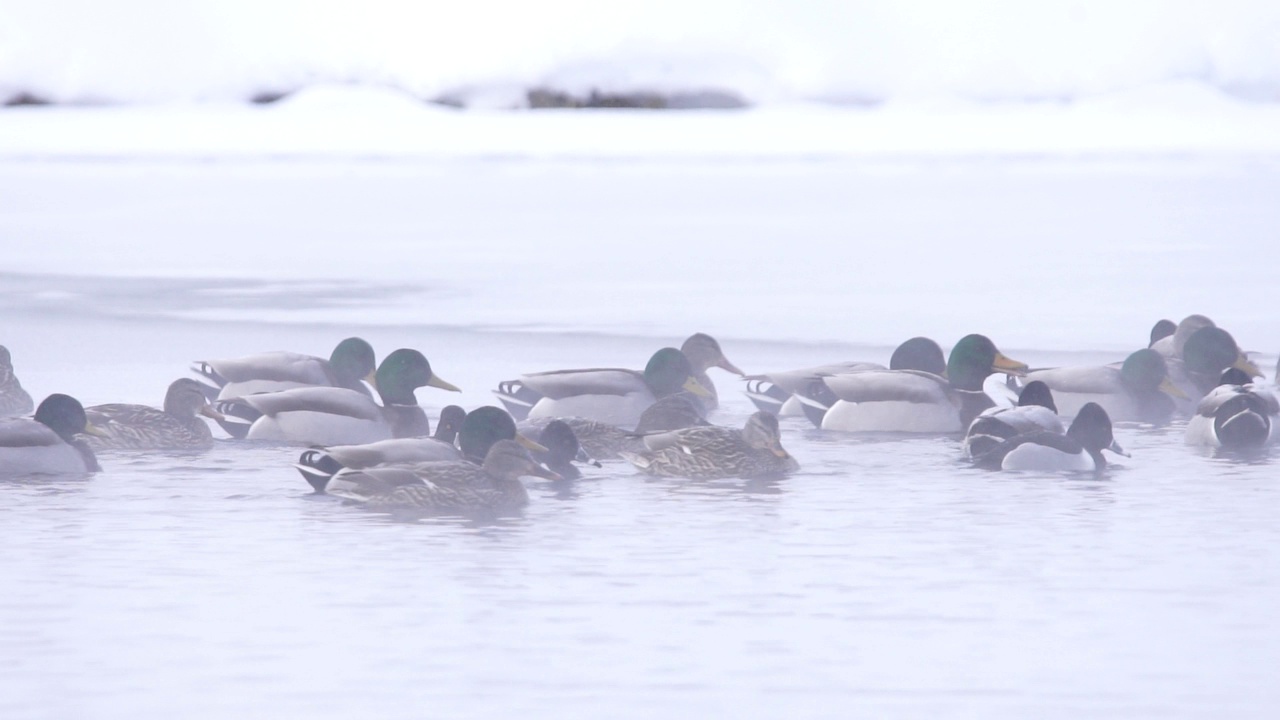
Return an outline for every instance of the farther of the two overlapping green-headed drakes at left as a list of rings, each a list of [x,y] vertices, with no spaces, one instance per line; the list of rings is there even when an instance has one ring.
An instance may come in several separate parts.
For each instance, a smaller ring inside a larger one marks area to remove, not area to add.
[[[376,357],[364,338],[348,337],[329,359],[297,352],[261,352],[228,360],[201,360],[192,370],[218,386],[215,400],[298,387],[343,387],[369,395],[361,380],[374,380]]]

